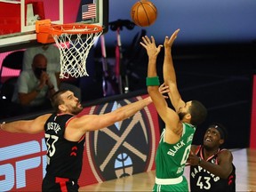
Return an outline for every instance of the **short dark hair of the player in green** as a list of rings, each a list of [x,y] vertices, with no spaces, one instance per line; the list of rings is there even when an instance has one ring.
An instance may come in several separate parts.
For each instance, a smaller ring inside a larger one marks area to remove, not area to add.
[[[190,124],[202,124],[207,117],[207,109],[198,100],[192,100],[191,106],[188,110],[191,115]]]

